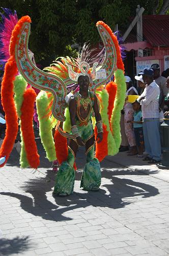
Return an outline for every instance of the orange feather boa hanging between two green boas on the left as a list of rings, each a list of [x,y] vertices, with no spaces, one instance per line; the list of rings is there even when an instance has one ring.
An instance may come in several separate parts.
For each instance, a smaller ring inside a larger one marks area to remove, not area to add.
[[[32,168],[37,169],[40,161],[32,125],[35,99],[36,93],[32,88],[24,92],[20,119],[27,160]]]

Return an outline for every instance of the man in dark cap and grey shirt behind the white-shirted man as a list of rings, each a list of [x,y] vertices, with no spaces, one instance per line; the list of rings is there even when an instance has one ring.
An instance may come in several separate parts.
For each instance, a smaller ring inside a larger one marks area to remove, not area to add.
[[[157,63],[151,65],[151,69],[154,71],[153,78],[155,82],[158,84],[160,88],[160,96],[159,96],[159,106],[161,109],[163,109],[164,106],[164,98],[167,95],[167,88],[165,86],[166,78],[163,76],[160,76],[160,67]]]

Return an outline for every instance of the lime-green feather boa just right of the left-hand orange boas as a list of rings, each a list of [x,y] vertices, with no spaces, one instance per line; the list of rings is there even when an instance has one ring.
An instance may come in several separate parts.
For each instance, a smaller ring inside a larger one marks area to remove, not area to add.
[[[54,161],[55,159],[57,159],[57,157],[52,136],[51,120],[48,116],[46,116],[46,108],[48,105],[47,93],[41,91],[37,96],[36,103],[41,141],[44,150],[46,151],[46,157],[49,161]]]

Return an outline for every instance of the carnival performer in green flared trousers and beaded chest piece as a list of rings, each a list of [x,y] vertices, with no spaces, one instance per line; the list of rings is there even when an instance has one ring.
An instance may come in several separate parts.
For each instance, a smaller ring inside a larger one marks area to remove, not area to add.
[[[74,161],[78,146],[86,146],[87,163],[83,170],[80,187],[85,190],[97,191],[101,184],[100,163],[94,157],[95,138],[92,125],[92,112],[95,113],[98,130],[97,141],[102,141],[103,127],[99,112],[97,97],[89,91],[90,76],[79,76],[77,83],[79,92],[70,92],[65,100],[69,104],[71,133],[75,139],[69,139],[68,159],[60,166],[54,194],[67,196],[73,193],[74,187]]]

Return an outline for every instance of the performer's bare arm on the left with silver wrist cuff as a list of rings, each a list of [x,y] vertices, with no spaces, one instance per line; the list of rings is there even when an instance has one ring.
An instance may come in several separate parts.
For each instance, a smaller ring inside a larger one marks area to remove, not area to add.
[[[78,129],[76,125],[76,101],[75,99],[71,99],[69,102],[69,113],[70,113],[70,121],[71,121],[71,132],[75,135],[77,144],[79,146],[85,145],[78,134]]]

